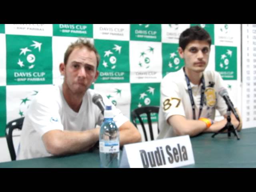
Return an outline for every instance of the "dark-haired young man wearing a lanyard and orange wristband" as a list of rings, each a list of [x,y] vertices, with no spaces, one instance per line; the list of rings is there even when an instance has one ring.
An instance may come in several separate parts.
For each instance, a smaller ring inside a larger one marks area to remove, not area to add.
[[[167,74],[161,82],[158,139],[217,132],[226,125],[228,107],[218,94],[225,87],[224,81],[218,72],[204,71],[210,46],[210,35],[199,26],[180,34],[178,52],[185,66]],[[213,121],[216,109],[224,120]],[[231,122],[238,130],[242,128],[242,122],[238,122],[233,113]]]

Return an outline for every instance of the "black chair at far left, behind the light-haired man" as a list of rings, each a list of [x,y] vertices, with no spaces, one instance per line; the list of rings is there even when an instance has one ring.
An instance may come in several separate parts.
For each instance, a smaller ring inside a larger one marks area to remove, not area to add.
[[[24,121],[24,117],[15,119],[15,120],[9,122],[6,125],[5,136],[6,136],[7,145],[8,145],[8,148],[9,148],[9,152],[10,152],[10,156],[11,156],[12,161],[16,160],[16,153],[15,153],[14,146],[13,146],[13,141],[12,141],[12,131],[14,129],[21,130],[22,125],[23,125],[23,121]]]

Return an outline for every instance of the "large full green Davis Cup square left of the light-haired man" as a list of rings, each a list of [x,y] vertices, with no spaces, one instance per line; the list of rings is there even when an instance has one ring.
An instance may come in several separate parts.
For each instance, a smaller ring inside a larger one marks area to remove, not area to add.
[[[52,84],[52,37],[6,35],[7,85]]]

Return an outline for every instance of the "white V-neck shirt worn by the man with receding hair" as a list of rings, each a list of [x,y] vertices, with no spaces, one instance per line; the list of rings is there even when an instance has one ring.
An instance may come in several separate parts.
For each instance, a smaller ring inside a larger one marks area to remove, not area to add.
[[[42,136],[50,130],[84,131],[101,125],[104,117],[92,102],[96,90],[88,89],[84,94],[79,112],[74,112],[64,99],[62,85],[52,86],[39,92],[26,113],[20,137],[17,160],[52,156],[44,147]],[[101,94],[101,93],[100,93]],[[101,94],[105,104],[112,104]],[[129,119],[112,105],[114,122],[120,127]]]

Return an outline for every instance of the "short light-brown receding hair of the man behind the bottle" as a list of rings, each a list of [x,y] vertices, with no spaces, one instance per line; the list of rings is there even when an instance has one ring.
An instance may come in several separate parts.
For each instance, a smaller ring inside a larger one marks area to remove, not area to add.
[[[64,64],[66,65],[68,62],[68,57],[70,56],[70,54],[72,53],[72,51],[75,48],[83,48],[86,47],[88,48],[88,50],[93,51],[96,54],[96,58],[97,58],[97,68],[99,66],[100,63],[100,54],[98,53],[98,51],[96,50],[94,44],[92,44],[89,40],[86,39],[82,39],[79,38],[76,42],[71,43],[70,46],[68,46],[65,54],[64,54]]]

